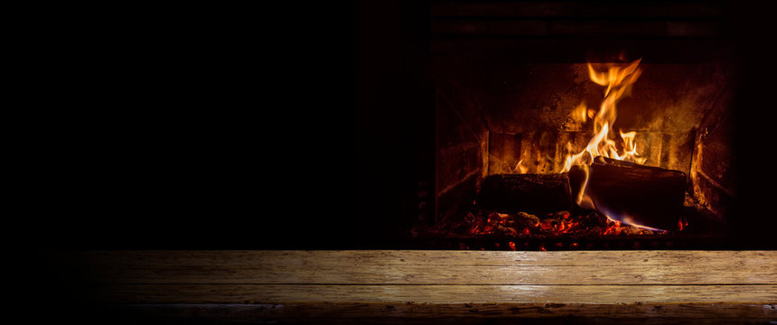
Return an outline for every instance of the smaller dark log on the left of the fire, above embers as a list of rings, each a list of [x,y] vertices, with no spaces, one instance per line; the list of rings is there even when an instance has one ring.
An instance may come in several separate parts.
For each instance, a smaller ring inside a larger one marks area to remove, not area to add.
[[[544,215],[569,210],[571,193],[566,173],[499,174],[483,180],[476,202],[482,209]]]

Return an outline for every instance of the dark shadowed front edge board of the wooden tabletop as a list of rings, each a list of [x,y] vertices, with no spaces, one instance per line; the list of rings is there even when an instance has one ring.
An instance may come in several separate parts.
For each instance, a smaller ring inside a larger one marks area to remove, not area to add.
[[[113,319],[186,320],[195,323],[304,324],[764,324],[772,320],[761,305],[516,305],[471,304],[134,304],[114,306]],[[585,314],[587,317],[576,317]],[[629,316],[630,314],[636,316]],[[456,315],[456,316],[450,316]],[[594,316],[595,315],[595,316]],[[535,319],[535,320],[532,320]],[[175,323],[179,323],[176,321]],[[107,321],[108,323],[113,323]],[[103,321],[106,323],[106,321]],[[156,323],[156,322],[154,322]],[[188,322],[187,322],[188,323]]]

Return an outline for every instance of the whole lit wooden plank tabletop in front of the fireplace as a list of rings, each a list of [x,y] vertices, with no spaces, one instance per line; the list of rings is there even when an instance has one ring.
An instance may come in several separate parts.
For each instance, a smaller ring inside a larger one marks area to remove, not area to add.
[[[89,251],[46,255],[105,320],[777,320],[775,251]]]

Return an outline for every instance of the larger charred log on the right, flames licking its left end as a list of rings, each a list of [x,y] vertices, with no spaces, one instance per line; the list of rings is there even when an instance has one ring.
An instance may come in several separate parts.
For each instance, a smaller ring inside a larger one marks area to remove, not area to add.
[[[609,218],[634,226],[677,228],[686,190],[684,172],[596,157],[589,167],[584,201]],[[569,172],[573,193],[585,183],[585,171]],[[580,202],[578,202],[580,203]]]

